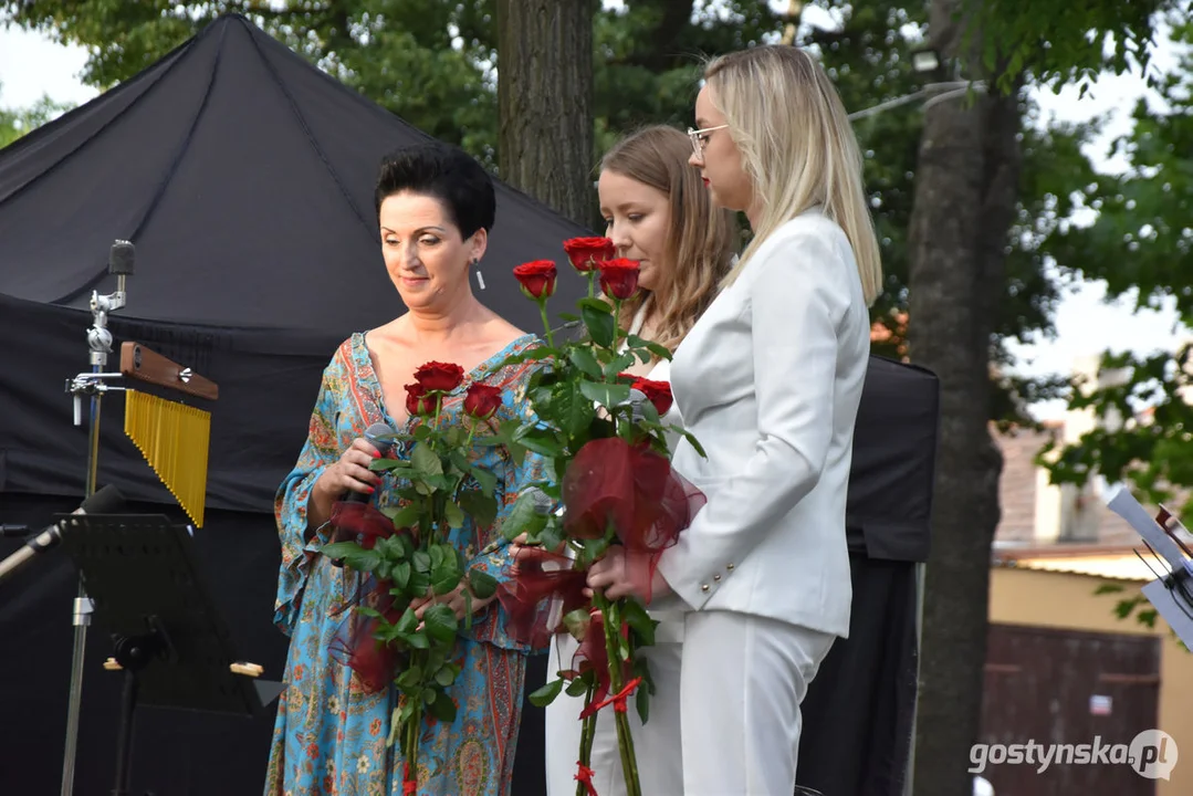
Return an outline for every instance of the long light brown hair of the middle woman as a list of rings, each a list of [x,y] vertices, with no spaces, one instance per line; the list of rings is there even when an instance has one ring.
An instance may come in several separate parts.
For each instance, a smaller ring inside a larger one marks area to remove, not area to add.
[[[639,290],[622,304],[629,328],[638,309],[654,302],[654,343],[675,351],[707,309],[736,251],[737,221],[709,199],[700,173],[688,165],[692,141],[666,125],[651,125],[619,141],[601,159],[610,171],[667,195],[667,247],[654,291]]]

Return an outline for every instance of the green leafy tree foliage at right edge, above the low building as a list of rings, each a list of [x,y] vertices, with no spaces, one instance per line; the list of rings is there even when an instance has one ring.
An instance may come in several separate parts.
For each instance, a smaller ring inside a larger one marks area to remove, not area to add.
[[[1173,39],[1182,53],[1157,86],[1161,103],[1141,100],[1133,132],[1115,143],[1131,167],[1073,184],[1075,198],[1098,217],[1058,234],[1057,249],[1084,277],[1105,279],[1109,297],[1133,295],[1138,308],[1167,298],[1193,326],[1193,24],[1175,21]],[[1099,473],[1129,480],[1143,500],[1179,501],[1170,507],[1193,512],[1189,343],[1174,333],[1154,340],[1148,356],[1105,353],[1102,368],[1126,380],[1098,390],[1075,384],[1070,407],[1093,408],[1102,422],[1055,461],[1041,458],[1055,481],[1083,483]]]

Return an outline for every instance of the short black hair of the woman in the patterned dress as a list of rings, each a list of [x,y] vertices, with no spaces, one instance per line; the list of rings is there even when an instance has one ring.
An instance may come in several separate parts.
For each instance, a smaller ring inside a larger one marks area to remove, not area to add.
[[[458,147],[429,141],[402,147],[385,155],[377,175],[377,215],[385,197],[402,191],[433,196],[447,208],[460,236],[493,229],[497,199],[493,178],[481,163]]]

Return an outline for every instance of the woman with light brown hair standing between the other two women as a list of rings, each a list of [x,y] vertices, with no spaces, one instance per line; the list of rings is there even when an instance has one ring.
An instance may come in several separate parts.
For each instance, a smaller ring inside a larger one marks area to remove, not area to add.
[[[598,192],[606,235],[618,255],[639,264],[642,290],[629,300],[622,317],[626,331],[674,351],[700,314],[712,302],[728,273],[737,241],[734,214],[715,208],[687,163],[688,137],[669,127],[649,127],[618,142],[601,161]],[[654,381],[669,381],[666,359],[639,363],[625,372]],[[673,406],[662,418],[680,425]],[[674,449],[678,434],[668,442]],[[650,660],[656,692],[650,720],[643,726],[630,710],[638,759],[666,760],[644,771],[644,794],[663,796],[682,788],[679,727],[679,666],[684,638],[682,612],[655,612],[660,621]],[[576,642],[560,635],[551,646],[549,675],[570,668]],[[576,755],[580,748],[580,711],[583,698],[561,693],[546,708],[546,784],[549,796],[575,796]],[[598,715],[593,741],[593,785],[600,796],[625,792],[617,733],[611,710]]]

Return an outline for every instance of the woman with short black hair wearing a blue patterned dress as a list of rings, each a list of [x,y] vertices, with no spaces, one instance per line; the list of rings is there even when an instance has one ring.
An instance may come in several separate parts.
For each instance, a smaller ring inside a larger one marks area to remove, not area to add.
[[[403,792],[401,745],[387,745],[397,703],[392,678],[373,690],[330,654],[363,584],[359,573],[334,566],[321,553],[332,541],[333,505],[348,493],[370,495],[381,508],[396,505],[402,481],[369,469],[379,453],[364,431],[376,422],[409,431],[420,422],[408,409],[406,390],[420,365],[455,363],[465,374],[443,399],[440,421],[449,424],[477,381],[501,390],[499,419],[514,416],[514,396],[531,372],[531,365],[501,363],[536,338],[481,304],[469,280],[484,255],[496,209],[493,180],[480,163],[440,143],[400,150],[382,163],[376,203],[385,269],[407,311],[340,345],[323,371],[298,462],[278,490],[276,622],[291,642],[270,753],[270,796]],[[407,455],[401,448],[395,452]],[[520,486],[539,477],[540,464],[533,455],[514,464],[501,448],[480,449],[472,464],[495,476],[497,518],[489,527],[466,519],[451,542],[469,568],[500,580],[508,563],[501,523]],[[530,650],[506,635],[500,604],[466,590],[462,581],[447,594],[412,604],[445,603],[457,618],[469,609],[474,613],[453,659],[462,666],[450,689],[456,718],[425,722],[420,796],[501,796],[513,770]]]

